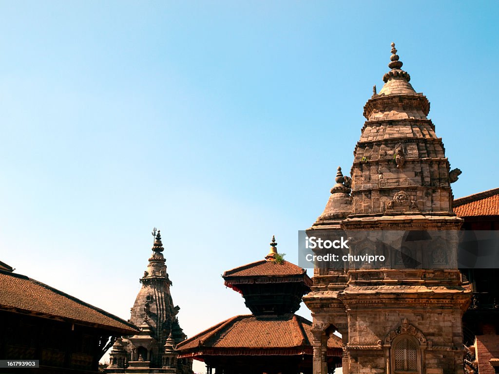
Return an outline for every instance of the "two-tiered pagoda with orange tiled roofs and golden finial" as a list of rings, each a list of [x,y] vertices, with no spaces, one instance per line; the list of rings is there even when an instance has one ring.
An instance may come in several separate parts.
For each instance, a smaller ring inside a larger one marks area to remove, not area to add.
[[[224,273],[225,285],[239,292],[251,314],[226,321],[177,345],[180,358],[204,361],[212,374],[311,374],[312,323],[294,314],[310,291],[304,269],[284,261],[272,237],[265,259]],[[341,366],[341,340],[324,342],[329,372]]]

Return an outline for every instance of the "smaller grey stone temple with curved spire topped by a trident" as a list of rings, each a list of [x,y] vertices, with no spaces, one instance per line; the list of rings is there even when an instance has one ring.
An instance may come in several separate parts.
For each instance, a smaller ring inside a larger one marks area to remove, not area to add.
[[[178,359],[175,347],[186,339],[180,328],[180,308],[174,306],[166,272],[161,234],[156,229],[147,270],[140,278],[142,287],[131,309],[130,322],[140,332],[118,338],[110,354],[106,373],[192,374],[192,359]]]

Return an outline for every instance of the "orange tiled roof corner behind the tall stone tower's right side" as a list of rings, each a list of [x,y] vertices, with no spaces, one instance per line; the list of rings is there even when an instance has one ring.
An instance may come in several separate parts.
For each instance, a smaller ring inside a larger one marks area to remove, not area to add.
[[[453,209],[459,217],[499,215],[499,188],[457,198]]]

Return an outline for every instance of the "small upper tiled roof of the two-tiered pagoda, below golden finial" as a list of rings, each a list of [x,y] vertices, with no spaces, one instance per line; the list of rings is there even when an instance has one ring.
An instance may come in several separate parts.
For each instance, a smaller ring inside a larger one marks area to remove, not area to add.
[[[223,277],[254,277],[268,275],[285,276],[302,274],[306,274],[305,270],[295,264],[292,264],[291,262],[282,261],[278,264],[274,261],[261,260],[227,270]]]

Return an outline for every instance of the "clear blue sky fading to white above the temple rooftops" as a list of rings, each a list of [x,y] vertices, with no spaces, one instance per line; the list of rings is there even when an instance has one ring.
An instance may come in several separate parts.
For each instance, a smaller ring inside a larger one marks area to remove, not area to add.
[[[272,234],[297,261],[392,41],[463,171],[455,196],[499,187],[498,17],[498,1],[0,1],[0,260],[128,319],[156,226],[188,336],[248,313],[220,275]]]

